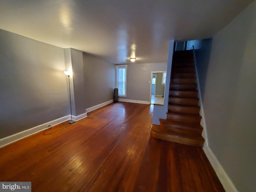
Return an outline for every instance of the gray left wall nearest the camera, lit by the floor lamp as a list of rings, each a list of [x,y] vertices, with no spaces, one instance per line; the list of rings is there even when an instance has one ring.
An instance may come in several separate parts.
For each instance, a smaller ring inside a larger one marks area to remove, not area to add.
[[[0,138],[66,116],[62,48],[0,30]]]

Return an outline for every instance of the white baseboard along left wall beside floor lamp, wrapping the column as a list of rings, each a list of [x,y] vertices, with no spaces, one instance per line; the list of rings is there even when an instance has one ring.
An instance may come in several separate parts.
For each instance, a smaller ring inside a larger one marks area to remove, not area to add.
[[[87,113],[84,113],[84,114],[81,114],[81,115],[78,115],[78,116],[73,116],[72,115],[72,119],[75,120],[75,121],[79,121],[79,120],[81,120],[83,118],[86,118],[86,117],[87,117]],[[70,120],[70,119],[71,119],[71,115],[67,115],[67,116],[64,116],[64,117],[61,117],[61,118],[49,121],[47,123],[44,123],[44,124],[32,127],[30,129],[24,130],[22,132],[18,132],[16,134],[7,136],[5,138],[2,138],[2,139],[0,139],[0,148],[3,147],[3,146],[6,146],[8,144],[11,144],[13,142],[16,142],[16,141],[18,141],[20,139],[23,139],[25,137],[28,137],[30,135],[36,134],[36,133],[38,133],[38,132],[40,132],[42,130],[46,130],[47,129],[46,125],[48,125],[48,124],[50,124],[51,126],[55,126],[55,125],[58,125],[58,124],[60,124],[62,122]]]

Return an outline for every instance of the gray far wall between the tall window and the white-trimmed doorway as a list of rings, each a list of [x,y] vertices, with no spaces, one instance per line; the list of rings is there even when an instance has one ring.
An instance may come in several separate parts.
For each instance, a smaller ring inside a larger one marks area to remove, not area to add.
[[[132,63],[127,66],[127,97],[150,102],[151,71],[166,71],[167,63]]]

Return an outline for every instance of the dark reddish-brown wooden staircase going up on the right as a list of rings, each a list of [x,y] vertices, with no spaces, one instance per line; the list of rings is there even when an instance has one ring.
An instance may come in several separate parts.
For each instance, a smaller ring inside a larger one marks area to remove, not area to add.
[[[167,118],[160,119],[160,125],[152,124],[153,137],[197,147],[204,145],[195,76],[193,51],[174,52]]]

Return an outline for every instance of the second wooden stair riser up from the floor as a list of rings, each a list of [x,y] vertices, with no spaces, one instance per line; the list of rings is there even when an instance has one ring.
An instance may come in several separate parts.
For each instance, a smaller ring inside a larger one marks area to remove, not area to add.
[[[174,124],[160,123],[160,129],[163,132],[166,132],[166,133],[172,132],[173,134],[176,134],[176,135],[178,134],[178,135],[191,136],[191,137],[202,135],[202,129],[178,126]]]

